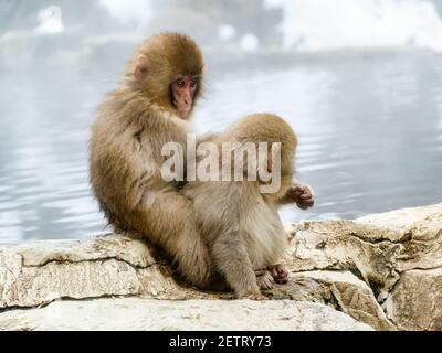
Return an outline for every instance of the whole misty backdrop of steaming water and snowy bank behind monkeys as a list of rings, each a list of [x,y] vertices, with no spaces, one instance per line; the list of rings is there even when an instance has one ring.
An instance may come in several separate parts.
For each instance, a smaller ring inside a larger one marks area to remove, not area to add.
[[[207,60],[198,132],[272,111],[316,205],[285,222],[442,201],[442,0],[1,0],[0,243],[106,232],[88,184],[96,107],[146,36]]]

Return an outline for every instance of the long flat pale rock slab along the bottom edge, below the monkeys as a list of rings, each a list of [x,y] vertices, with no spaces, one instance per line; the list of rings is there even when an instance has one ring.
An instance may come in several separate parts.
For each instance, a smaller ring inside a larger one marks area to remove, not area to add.
[[[0,314],[0,330],[368,331],[369,325],[324,304],[290,300],[57,301]]]

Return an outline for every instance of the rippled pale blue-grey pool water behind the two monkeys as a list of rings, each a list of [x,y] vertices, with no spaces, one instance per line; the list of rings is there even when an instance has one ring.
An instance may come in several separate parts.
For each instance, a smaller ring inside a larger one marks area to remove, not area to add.
[[[336,52],[251,62],[209,64],[196,126],[217,131],[255,111],[291,122],[297,174],[317,203],[307,212],[285,207],[284,221],[442,202],[442,56]],[[116,76],[31,72],[0,72],[0,243],[101,234],[87,142]]]

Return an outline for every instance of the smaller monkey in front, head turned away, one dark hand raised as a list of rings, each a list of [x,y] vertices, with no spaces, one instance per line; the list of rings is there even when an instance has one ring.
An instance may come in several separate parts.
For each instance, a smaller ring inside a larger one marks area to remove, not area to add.
[[[290,125],[270,114],[240,119],[199,145],[200,180],[189,181],[182,193],[193,200],[213,266],[238,298],[266,299],[260,287],[287,281],[280,265],[286,235],[277,210],[288,203],[301,208],[314,204],[313,190],[294,179],[296,146]]]

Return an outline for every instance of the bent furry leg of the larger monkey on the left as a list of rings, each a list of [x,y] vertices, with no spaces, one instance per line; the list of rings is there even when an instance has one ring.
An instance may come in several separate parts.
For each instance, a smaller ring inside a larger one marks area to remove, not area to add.
[[[209,249],[197,226],[193,202],[175,192],[157,192],[149,196],[144,213],[147,235],[172,259],[188,281],[210,286],[212,266]]]

